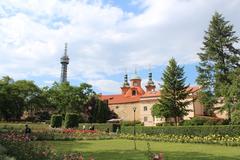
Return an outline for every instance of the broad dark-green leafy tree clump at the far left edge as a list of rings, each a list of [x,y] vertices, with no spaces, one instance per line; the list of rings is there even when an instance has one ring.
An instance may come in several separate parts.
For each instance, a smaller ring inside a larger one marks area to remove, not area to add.
[[[14,81],[10,77],[0,80],[0,119],[19,120],[23,111],[28,111],[30,117],[48,108],[46,97],[33,81]]]

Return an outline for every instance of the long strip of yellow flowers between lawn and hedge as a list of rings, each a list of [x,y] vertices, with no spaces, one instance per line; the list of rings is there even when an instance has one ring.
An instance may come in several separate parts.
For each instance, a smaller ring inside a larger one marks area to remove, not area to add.
[[[132,134],[121,134],[123,139],[136,139],[146,141],[161,141],[174,143],[203,143],[203,144],[220,144],[226,146],[240,146],[240,136],[230,137],[228,135],[208,135],[208,136],[189,136],[189,135],[147,135],[137,134],[135,137]]]

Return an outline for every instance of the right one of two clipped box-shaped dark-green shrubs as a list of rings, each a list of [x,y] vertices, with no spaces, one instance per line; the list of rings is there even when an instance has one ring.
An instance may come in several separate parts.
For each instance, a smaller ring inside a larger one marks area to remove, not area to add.
[[[76,128],[78,127],[79,115],[76,113],[67,113],[65,116],[65,128]]]

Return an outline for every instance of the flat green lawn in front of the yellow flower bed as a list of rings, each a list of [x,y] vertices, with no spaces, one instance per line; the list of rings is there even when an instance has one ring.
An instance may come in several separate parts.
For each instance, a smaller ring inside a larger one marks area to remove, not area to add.
[[[147,160],[147,142],[131,140],[49,141],[57,152],[81,152],[96,160]],[[240,147],[205,144],[150,142],[151,151],[163,152],[165,160],[240,160]]]

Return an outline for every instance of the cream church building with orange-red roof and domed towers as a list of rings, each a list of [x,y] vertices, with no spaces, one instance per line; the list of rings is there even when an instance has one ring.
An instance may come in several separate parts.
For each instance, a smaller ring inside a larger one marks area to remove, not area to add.
[[[133,121],[133,108],[136,108],[135,119],[143,122],[144,125],[153,126],[157,123],[165,122],[164,118],[156,118],[151,115],[151,108],[158,103],[161,94],[160,91],[156,90],[152,80],[152,73],[149,73],[145,90],[142,88],[141,82],[141,77],[135,72],[129,84],[128,75],[126,74],[121,87],[121,94],[100,95],[100,98],[107,100],[109,108],[123,121]],[[183,117],[184,119],[203,115],[203,107],[196,99],[200,87],[189,87],[189,90],[191,90],[189,98],[192,99],[192,103],[188,106],[189,114]]]

